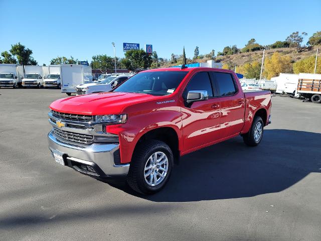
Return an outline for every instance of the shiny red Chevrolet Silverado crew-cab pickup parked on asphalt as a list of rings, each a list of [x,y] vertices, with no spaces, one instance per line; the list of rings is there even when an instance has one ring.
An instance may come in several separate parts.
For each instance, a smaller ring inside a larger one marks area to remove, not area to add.
[[[150,194],[185,154],[238,135],[258,145],[271,93],[244,93],[230,70],[183,66],[142,71],[112,92],[58,99],[50,108],[49,149],[58,163],[96,179],[125,177]]]

